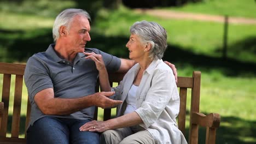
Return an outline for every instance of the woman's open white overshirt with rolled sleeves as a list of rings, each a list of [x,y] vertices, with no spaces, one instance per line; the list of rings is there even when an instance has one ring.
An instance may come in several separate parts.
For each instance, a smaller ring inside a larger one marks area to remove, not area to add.
[[[127,95],[138,73],[139,64],[134,65],[124,76],[120,85],[114,87],[114,99],[124,101],[118,106],[117,116],[124,115]],[[136,92],[135,112],[156,143],[187,143],[178,129],[176,117],[179,113],[179,94],[172,70],[161,59],[154,60],[144,71]]]

